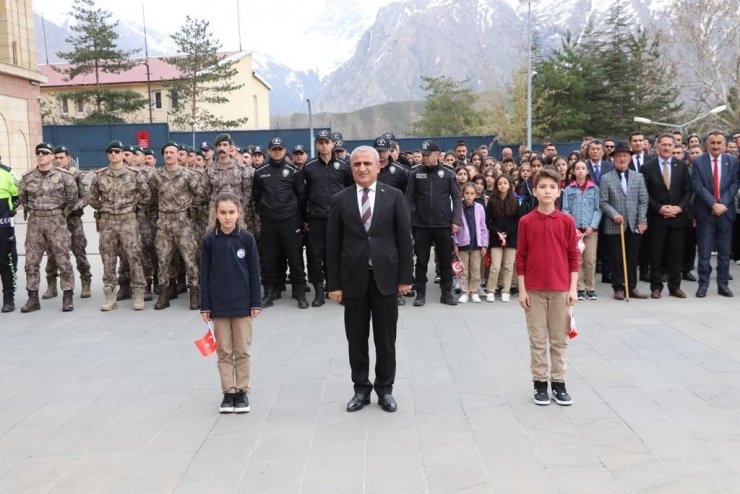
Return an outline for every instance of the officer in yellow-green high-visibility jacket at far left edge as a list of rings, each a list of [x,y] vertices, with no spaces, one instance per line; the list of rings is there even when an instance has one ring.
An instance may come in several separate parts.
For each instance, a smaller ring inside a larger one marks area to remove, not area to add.
[[[18,272],[18,250],[15,245],[13,217],[18,199],[18,177],[4,165],[0,156],[0,280],[3,285],[2,312],[15,310],[15,276]]]

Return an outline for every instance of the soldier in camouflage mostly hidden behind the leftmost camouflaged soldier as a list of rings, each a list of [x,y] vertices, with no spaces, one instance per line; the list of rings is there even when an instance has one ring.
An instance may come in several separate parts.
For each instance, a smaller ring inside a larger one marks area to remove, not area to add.
[[[69,215],[67,216],[67,229],[72,239],[72,253],[75,255],[75,261],[77,262],[77,271],[80,273],[80,282],[82,283],[82,291],[80,292],[80,298],[90,297],[90,281],[92,280],[92,274],[90,274],[90,262],[87,260],[87,238],[85,237],[85,229],[82,226],[82,214],[87,206],[87,183],[86,177],[80,172],[80,170],[74,166],[71,166],[71,158],[69,156],[69,148],[67,146],[57,146],[54,148],[54,164],[57,168],[67,170],[75,179],[77,184],[77,202],[72,205]],[[41,296],[44,299],[50,299],[57,296],[57,276],[58,267],[54,259],[54,254],[47,251],[46,259],[46,292]]]

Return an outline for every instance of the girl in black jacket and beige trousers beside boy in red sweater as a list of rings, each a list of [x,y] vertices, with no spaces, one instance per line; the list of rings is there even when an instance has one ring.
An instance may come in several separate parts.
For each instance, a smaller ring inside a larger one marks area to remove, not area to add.
[[[522,209],[514,197],[511,179],[501,175],[496,179],[496,193],[491,196],[486,209],[488,246],[491,250],[491,268],[486,283],[486,302],[496,300],[496,287],[501,274],[501,301],[511,300],[511,277],[516,259],[517,227]]]

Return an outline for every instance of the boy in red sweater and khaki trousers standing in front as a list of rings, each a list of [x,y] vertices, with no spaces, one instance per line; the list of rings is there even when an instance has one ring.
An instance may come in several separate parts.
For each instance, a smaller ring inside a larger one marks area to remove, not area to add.
[[[519,305],[527,317],[534,402],[549,405],[547,345],[550,344],[552,396],[558,405],[573,403],[565,389],[568,306],[577,300],[578,235],[573,218],[555,208],[560,175],[543,168],[535,177],[539,204],[519,221],[516,272]]]

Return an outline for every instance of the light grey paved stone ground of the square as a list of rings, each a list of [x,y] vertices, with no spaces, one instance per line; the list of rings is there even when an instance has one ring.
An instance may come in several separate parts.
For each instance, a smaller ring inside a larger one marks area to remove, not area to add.
[[[432,288],[400,311],[396,414],[344,411],[341,307],[283,299],[256,321],[236,416],[216,412],[198,313],[101,313],[92,260],[74,312],[0,316],[2,493],[740,492],[740,301],[714,288],[620,303],[599,285],[575,309],[568,408],[531,401],[516,303],[450,308]]]

